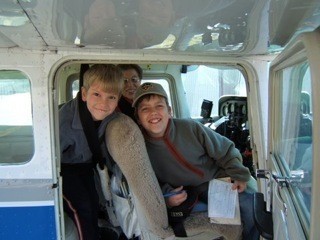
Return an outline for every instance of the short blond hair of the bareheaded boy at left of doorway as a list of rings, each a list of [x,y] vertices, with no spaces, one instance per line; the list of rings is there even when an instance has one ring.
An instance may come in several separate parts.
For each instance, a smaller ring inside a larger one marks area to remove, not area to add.
[[[83,75],[83,87],[89,89],[93,83],[100,83],[105,92],[120,96],[123,88],[122,70],[114,64],[95,64]]]

